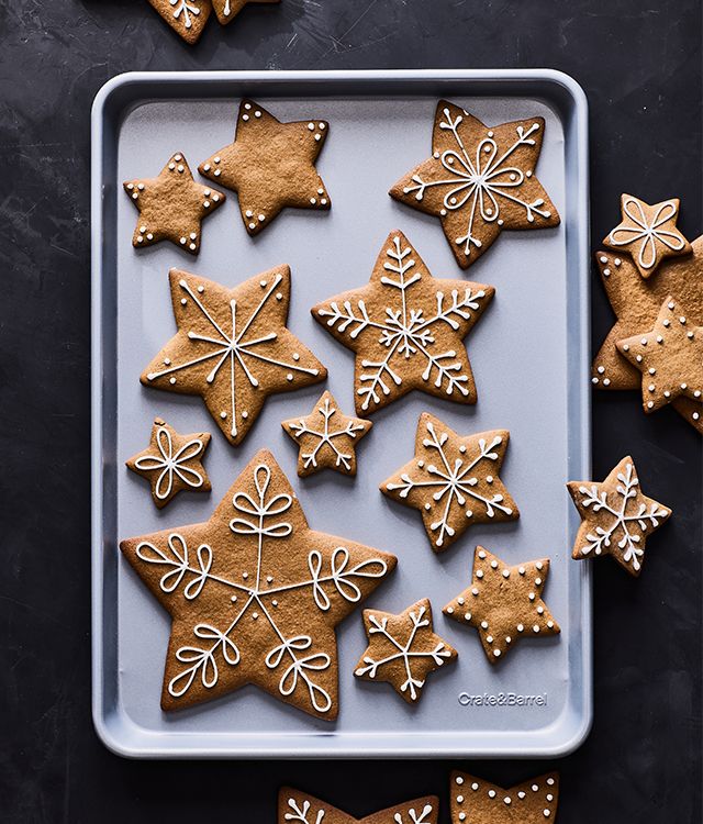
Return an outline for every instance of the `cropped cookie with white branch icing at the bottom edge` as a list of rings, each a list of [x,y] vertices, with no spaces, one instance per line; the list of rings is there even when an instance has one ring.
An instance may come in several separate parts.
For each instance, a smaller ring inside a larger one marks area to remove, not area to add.
[[[314,795],[283,787],[278,793],[278,824],[437,824],[438,808],[438,799],[427,795],[353,819]]]

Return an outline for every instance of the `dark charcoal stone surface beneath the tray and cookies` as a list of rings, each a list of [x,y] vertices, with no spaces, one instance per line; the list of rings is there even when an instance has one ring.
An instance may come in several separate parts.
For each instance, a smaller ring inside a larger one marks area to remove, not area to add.
[[[680,196],[701,232],[700,0],[283,0],[191,48],[145,0],[0,0],[0,819],[274,824],[292,783],[356,815],[453,766],[562,773],[562,824],[701,821],[701,441],[594,396],[601,478],[624,454],[674,510],[639,581],[595,570],[595,723],[560,761],[133,762],[90,717],[89,109],[129,69],[548,66],[591,103],[594,245],[618,194]],[[611,312],[593,279],[593,343]],[[443,824],[448,822],[446,804]]]

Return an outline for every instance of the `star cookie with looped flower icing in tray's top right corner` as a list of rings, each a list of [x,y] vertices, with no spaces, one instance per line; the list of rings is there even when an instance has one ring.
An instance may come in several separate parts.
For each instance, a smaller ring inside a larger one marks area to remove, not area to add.
[[[389,193],[439,218],[457,263],[466,269],[503,229],[559,224],[559,214],[534,174],[544,131],[543,118],[487,126],[465,109],[440,100],[432,157]]]

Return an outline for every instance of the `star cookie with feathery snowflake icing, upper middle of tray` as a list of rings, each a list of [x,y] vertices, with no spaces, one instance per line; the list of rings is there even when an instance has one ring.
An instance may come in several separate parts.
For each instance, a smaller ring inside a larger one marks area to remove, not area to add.
[[[356,353],[357,414],[371,414],[412,389],[476,403],[462,339],[494,292],[483,283],[433,278],[405,235],[391,232],[367,286],[312,309]]]

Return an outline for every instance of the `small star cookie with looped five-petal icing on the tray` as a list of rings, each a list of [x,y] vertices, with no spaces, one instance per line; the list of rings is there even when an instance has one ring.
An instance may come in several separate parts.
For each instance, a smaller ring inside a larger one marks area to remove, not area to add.
[[[160,417],[154,419],[152,439],[143,452],[126,461],[133,472],[152,485],[152,499],[163,509],[182,489],[209,492],[212,487],[202,465],[210,433],[180,435]]]

